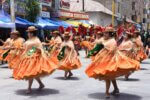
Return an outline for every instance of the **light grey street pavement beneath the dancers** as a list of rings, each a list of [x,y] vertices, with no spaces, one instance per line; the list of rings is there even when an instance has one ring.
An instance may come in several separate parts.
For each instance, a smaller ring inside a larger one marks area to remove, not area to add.
[[[80,52],[82,68],[74,70],[69,80],[64,80],[63,71],[55,71],[42,79],[45,89],[38,92],[38,84],[33,83],[33,92],[25,94],[28,82],[14,80],[12,70],[6,65],[0,66],[0,100],[106,100],[105,82],[88,78],[85,69],[90,59]],[[120,95],[111,96],[107,100],[150,100],[150,59],[141,64],[141,70],[133,73],[129,81],[124,77],[117,79]],[[111,86],[111,91],[113,90]]]

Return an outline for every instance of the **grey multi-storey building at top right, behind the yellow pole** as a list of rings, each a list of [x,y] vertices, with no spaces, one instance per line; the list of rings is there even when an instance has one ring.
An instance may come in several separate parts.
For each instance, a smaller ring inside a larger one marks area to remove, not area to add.
[[[112,10],[112,0],[95,0]],[[120,17],[126,17],[134,22],[143,22],[145,7],[144,0],[116,0],[115,13]]]

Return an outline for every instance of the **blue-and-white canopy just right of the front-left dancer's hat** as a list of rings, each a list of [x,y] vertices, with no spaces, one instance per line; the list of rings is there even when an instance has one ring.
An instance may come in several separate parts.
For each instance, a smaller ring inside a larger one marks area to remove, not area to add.
[[[45,20],[43,18],[38,18],[37,24],[41,26],[43,29],[58,29],[59,25],[51,23],[48,20]]]

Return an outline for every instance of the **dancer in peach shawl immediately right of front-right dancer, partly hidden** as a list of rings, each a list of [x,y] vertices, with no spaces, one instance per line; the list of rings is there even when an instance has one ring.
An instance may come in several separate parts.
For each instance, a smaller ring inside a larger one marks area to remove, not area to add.
[[[119,45],[118,49],[120,52],[123,53],[123,55],[131,58],[133,61],[139,63],[136,60],[136,53],[134,50],[134,43],[132,42],[133,33],[126,31],[126,34],[124,36],[123,42]],[[139,70],[140,67],[137,66],[136,70]],[[133,71],[130,71],[128,74],[125,75],[125,79],[128,80],[129,76],[133,73]]]

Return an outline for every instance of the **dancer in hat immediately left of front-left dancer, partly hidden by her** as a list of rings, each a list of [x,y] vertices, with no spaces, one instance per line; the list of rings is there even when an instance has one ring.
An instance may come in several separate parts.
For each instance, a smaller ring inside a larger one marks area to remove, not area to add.
[[[18,60],[18,57],[21,53],[20,49],[23,47],[25,40],[20,37],[19,31],[13,31],[11,32],[11,35],[13,38],[12,45],[5,48],[10,52],[5,57],[3,55],[3,59],[8,62],[10,69],[14,69],[13,64]]]

